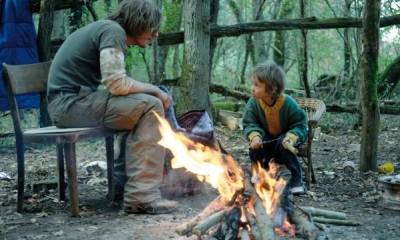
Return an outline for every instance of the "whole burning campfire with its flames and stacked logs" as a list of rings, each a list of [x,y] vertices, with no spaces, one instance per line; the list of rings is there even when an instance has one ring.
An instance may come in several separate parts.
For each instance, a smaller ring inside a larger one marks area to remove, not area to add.
[[[173,154],[172,168],[185,168],[219,193],[201,213],[179,226],[178,234],[256,240],[319,236],[309,216],[289,200],[290,172],[285,166],[271,161],[268,171],[259,163],[246,169],[230,155],[174,132],[160,117],[159,121],[159,144]]]

